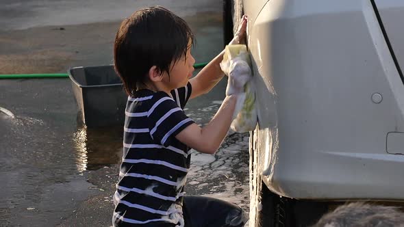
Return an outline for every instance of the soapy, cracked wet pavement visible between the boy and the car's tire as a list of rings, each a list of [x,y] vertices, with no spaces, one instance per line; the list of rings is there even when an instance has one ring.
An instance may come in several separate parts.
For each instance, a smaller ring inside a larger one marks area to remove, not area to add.
[[[205,107],[186,109],[186,114],[201,126],[207,124],[223,101]],[[196,150],[192,154],[186,193],[231,202],[249,213],[249,133],[229,131],[214,155]],[[245,226],[249,226],[247,223]]]

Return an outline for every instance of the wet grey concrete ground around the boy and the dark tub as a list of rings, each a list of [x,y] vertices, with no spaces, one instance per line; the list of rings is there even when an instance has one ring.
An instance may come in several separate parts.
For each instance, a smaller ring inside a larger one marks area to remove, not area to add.
[[[110,1],[81,3],[0,0],[0,74],[111,64],[120,18],[147,3],[174,9],[190,23],[197,35],[197,62],[223,48],[221,1],[199,1],[197,8],[185,0],[115,1],[114,8]],[[190,117],[208,122],[225,85],[223,80],[210,94],[190,101]],[[0,112],[0,226],[110,226],[121,127],[88,129],[77,122],[69,79],[0,80],[0,107],[15,115]],[[193,152],[186,192],[248,210],[248,162],[248,135],[229,133],[216,155]]]

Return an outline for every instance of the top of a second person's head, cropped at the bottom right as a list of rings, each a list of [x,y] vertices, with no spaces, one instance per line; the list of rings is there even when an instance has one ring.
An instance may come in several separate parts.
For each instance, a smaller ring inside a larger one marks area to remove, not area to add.
[[[312,227],[393,227],[404,226],[404,213],[394,206],[353,202],[338,206]]]

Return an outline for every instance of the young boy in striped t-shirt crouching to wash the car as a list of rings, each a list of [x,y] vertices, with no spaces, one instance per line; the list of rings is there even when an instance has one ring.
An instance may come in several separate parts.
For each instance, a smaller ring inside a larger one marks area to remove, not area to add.
[[[243,40],[244,16],[231,44]],[[194,35],[184,20],[160,6],[126,18],[114,43],[114,66],[129,95],[123,161],[116,185],[114,226],[244,226],[242,209],[199,196],[184,196],[188,150],[214,154],[231,124],[244,84],[229,78],[225,100],[207,126],[183,109],[190,98],[209,92],[223,72],[223,52],[190,79]]]

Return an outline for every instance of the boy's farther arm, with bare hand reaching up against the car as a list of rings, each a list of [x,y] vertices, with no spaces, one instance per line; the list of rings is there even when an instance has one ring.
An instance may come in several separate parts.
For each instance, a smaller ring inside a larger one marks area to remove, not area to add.
[[[239,44],[245,38],[245,33],[247,29],[247,16],[243,16],[242,22],[236,35],[229,44]],[[209,64],[207,64],[201,72],[198,73],[196,77],[190,79],[192,85],[192,94],[190,98],[195,98],[201,94],[206,94],[210,92],[212,88],[223,78],[225,75],[220,69],[220,62],[223,60],[223,55],[225,51],[219,53],[214,59],[212,59]]]

